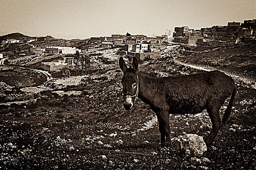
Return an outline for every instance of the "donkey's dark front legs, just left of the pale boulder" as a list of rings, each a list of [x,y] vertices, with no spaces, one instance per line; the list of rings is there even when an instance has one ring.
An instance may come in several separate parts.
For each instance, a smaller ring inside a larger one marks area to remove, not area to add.
[[[157,113],[159,131],[161,135],[161,147],[164,147],[167,144],[169,145],[170,140],[170,124],[169,124],[169,113],[161,111]]]

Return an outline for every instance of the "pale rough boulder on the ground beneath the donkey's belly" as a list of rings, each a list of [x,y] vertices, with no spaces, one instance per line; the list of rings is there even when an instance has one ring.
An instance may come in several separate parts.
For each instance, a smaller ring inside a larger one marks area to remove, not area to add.
[[[185,153],[191,156],[201,157],[207,151],[207,146],[202,136],[196,134],[186,134],[171,138],[171,147],[178,150],[185,150]]]

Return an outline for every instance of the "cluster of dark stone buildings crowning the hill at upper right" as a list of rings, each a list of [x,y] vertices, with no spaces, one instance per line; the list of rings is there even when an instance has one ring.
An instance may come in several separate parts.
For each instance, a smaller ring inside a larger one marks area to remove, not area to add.
[[[227,26],[212,26],[201,30],[187,26],[175,27],[174,42],[197,46],[225,46],[240,42],[251,42],[256,36],[256,19],[244,23],[228,22]]]

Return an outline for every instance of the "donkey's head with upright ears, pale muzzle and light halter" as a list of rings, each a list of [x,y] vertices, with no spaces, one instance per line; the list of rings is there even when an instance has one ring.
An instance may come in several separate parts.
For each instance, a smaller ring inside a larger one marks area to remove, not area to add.
[[[122,85],[124,108],[130,110],[133,107],[133,102],[138,96],[138,60],[133,57],[133,67],[127,68],[123,57],[119,58],[119,66],[123,71]]]

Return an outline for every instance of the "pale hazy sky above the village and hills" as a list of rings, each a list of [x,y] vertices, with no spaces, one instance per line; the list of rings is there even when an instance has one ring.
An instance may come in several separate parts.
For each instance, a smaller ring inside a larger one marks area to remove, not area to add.
[[[0,0],[0,35],[161,35],[256,19],[256,0]]]

